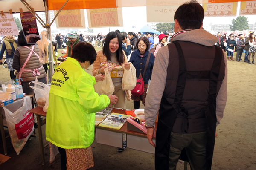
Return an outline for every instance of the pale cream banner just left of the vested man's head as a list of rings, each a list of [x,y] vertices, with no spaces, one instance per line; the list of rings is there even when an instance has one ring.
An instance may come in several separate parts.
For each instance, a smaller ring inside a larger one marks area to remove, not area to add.
[[[147,22],[174,23],[174,14],[179,6],[147,6]]]

